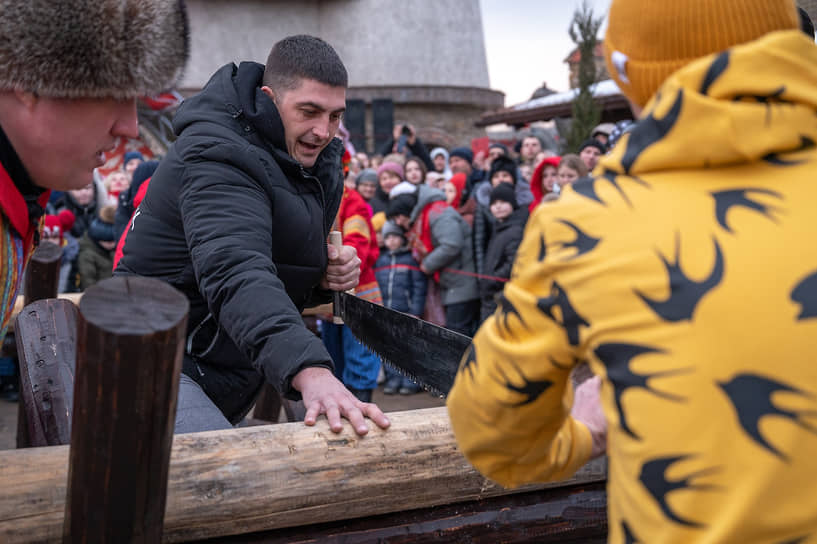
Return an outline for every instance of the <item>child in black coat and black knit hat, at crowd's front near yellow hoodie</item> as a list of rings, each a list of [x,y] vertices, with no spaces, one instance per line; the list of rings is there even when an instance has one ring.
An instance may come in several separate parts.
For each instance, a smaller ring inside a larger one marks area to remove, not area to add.
[[[491,215],[496,224],[485,250],[484,276],[479,280],[480,322],[496,311],[496,295],[511,277],[516,251],[522,242],[528,211],[516,202],[512,185],[500,183],[491,190]]]

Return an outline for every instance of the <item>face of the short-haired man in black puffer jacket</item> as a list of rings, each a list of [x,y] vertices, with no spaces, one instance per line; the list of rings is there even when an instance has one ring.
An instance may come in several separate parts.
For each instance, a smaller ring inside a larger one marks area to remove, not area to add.
[[[277,95],[267,86],[261,90],[278,107],[290,157],[306,168],[314,166],[338,131],[346,109],[346,89],[302,79],[294,89]]]

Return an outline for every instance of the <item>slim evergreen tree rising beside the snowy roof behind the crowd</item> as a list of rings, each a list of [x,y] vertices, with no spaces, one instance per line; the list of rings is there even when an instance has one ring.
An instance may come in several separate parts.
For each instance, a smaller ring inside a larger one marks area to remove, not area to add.
[[[581,143],[590,137],[593,128],[601,119],[601,108],[593,100],[591,87],[596,82],[595,49],[598,44],[597,34],[604,17],[593,17],[593,10],[582,3],[580,9],[573,12],[568,32],[570,39],[579,49],[579,94],[573,100],[573,120],[567,136],[567,149],[575,153]]]

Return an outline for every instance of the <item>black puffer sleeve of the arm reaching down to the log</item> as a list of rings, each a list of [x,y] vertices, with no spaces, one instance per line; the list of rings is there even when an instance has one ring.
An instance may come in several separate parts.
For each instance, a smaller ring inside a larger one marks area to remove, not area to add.
[[[271,195],[234,166],[190,164],[180,211],[199,290],[210,312],[266,380],[297,397],[292,378],[308,366],[332,368],[304,326],[272,261]]]

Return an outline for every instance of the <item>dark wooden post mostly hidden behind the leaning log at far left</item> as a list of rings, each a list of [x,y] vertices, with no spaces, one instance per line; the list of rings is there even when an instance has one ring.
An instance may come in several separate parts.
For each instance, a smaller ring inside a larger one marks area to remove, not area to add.
[[[37,300],[46,298],[56,298],[60,282],[60,261],[62,260],[62,248],[53,242],[42,242],[31,255],[31,261],[26,269],[25,283],[23,285],[23,305],[31,304]],[[22,373],[21,373],[22,375]],[[20,379],[20,391],[24,384]],[[22,398],[22,395],[21,395]],[[28,436],[28,419],[26,411],[22,407],[17,410],[17,447],[28,448],[31,446],[31,439]]]

